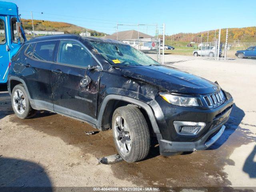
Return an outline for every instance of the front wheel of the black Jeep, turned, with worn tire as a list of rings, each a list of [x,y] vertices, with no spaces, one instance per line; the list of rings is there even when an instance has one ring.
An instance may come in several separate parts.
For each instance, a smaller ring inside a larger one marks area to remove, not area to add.
[[[142,112],[133,105],[114,111],[112,131],[116,149],[126,162],[136,162],[148,156],[150,132]]]

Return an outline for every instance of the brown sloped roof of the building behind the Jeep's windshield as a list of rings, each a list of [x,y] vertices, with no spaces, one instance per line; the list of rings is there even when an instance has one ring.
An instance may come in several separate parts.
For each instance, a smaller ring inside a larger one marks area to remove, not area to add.
[[[139,34],[138,34],[139,33]],[[128,30],[128,31],[120,31],[118,32],[118,40],[129,40],[129,39],[138,39],[138,35],[140,38],[146,39],[146,38],[152,38],[153,36],[138,32],[136,30]],[[117,40],[116,33],[113,33],[112,35],[107,35],[103,37],[104,39],[113,39]]]

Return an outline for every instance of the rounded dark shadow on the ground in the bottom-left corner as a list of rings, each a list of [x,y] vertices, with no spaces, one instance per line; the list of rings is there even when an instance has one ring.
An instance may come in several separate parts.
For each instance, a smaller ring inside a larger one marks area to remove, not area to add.
[[[13,188],[48,187],[52,191],[50,178],[39,164],[15,158],[0,157],[0,190]]]

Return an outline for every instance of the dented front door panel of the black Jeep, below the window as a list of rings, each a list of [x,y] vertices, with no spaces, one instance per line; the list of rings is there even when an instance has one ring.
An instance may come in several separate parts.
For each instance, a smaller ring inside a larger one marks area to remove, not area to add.
[[[78,118],[82,118],[78,115],[80,113],[96,118],[101,72],[62,64],[52,64],[51,70],[54,110]],[[91,81],[84,86],[83,82],[87,77]]]

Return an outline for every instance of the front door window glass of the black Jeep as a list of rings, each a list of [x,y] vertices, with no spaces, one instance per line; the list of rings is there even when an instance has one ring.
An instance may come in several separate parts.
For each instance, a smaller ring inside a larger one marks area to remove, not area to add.
[[[78,42],[60,41],[58,62],[86,67],[92,64],[91,54]]]

